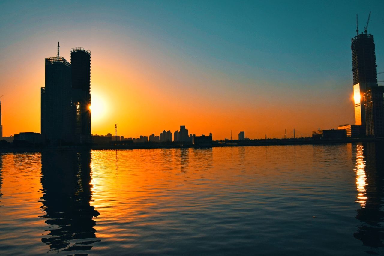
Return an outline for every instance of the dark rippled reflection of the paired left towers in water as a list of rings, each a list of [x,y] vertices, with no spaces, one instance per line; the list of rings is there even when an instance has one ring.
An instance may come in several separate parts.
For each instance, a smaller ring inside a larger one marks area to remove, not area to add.
[[[50,233],[41,241],[50,250],[84,251],[96,240],[93,217],[99,213],[89,204],[91,152],[41,153],[42,211]]]

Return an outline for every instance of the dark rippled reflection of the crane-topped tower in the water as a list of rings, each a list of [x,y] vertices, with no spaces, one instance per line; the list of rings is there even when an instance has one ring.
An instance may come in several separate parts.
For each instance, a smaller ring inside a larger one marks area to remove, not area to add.
[[[371,248],[384,247],[384,143],[364,143],[362,154],[365,160],[365,203],[357,210],[356,219],[361,221],[354,237]],[[362,145],[361,145],[362,146]],[[358,145],[359,147],[359,145]],[[357,152],[359,154],[359,151]],[[361,183],[362,185],[363,183]],[[357,184],[359,190],[359,184]],[[372,252],[375,253],[375,252]]]

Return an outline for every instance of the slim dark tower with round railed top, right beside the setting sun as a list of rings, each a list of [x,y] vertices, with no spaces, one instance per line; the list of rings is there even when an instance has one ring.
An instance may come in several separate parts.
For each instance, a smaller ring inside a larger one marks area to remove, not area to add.
[[[71,71],[75,142],[91,143],[91,52],[72,48]]]

